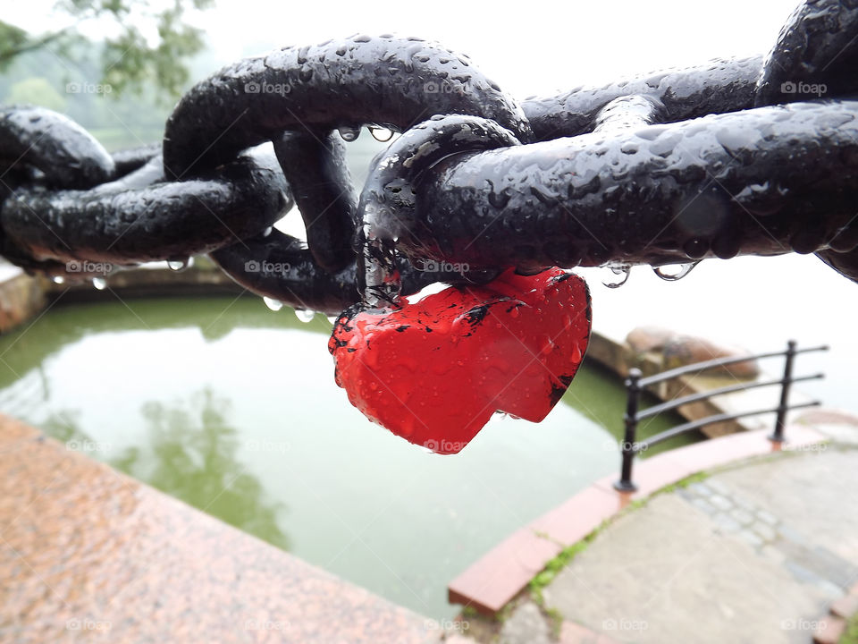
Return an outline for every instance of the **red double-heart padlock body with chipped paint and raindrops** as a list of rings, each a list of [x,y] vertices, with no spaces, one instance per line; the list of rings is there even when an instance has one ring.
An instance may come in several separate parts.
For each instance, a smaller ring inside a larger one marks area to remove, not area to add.
[[[457,453],[494,411],[539,422],[590,338],[590,293],[560,268],[510,268],[399,309],[352,308],[328,348],[337,385],[366,418],[437,453]]]

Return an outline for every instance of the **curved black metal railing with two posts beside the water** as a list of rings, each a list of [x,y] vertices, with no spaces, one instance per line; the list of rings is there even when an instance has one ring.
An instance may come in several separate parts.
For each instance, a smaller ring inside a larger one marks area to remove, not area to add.
[[[758,353],[756,355],[742,356],[740,358],[718,358],[716,360],[705,360],[703,362],[696,362],[694,364],[686,365],[684,367],[678,367],[677,369],[663,371],[662,373],[655,374],[654,376],[643,377],[643,374],[641,373],[640,369],[629,369],[628,377],[626,379],[628,398],[626,403],[626,415],[624,417],[626,422],[626,431],[623,439],[623,444],[621,445],[622,468],[620,471],[619,480],[614,483],[614,487],[622,492],[633,492],[635,491],[635,489],[637,489],[635,484],[632,482],[632,465],[634,464],[635,455],[637,453],[644,452],[652,445],[657,445],[658,443],[666,441],[669,438],[679,436],[680,434],[685,434],[686,432],[702,428],[706,425],[711,425],[712,423],[724,422],[726,420],[735,420],[740,418],[746,418],[748,416],[758,416],[760,414],[775,412],[778,414],[777,418],[775,419],[775,429],[772,432],[771,436],[769,436],[769,439],[770,441],[775,443],[782,443],[785,440],[784,430],[786,427],[787,411],[801,409],[803,407],[815,407],[820,404],[820,401],[802,402],[800,404],[795,405],[789,404],[789,390],[793,383],[802,382],[804,380],[817,380],[823,377],[823,374],[821,373],[813,374],[812,376],[793,377],[793,365],[795,362],[795,356],[799,353],[820,352],[828,350],[829,347],[826,345],[809,347],[807,349],[798,349],[796,347],[795,340],[790,340],[787,343],[786,351]],[[786,357],[784,364],[784,376],[782,378],[723,386],[717,389],[710,389],[709,391],[701,392],[698,394],[682,396],[681,398],[676,398],[668,402],[662,402],[660,404],[653,405],[652,407],[649,407],[644,411],[638,411],[638,406],[641,402],[641,392],[644,391],[644,389],[648,386],[664,382],[665,380],[671,380],[675,377],[685,376],[686,374],[700,373],[702,371],[705,371],[706,369],[712,369],[713,367],[724,367],[727,365],[736,364],[738,362],[746,362],[748,360],[761,360],[763,358],[776,358],[778,356]],[[746,389],[755,389],[757,387],[773,385],[781,386],[780,402],[777,407],[754,411],[740,411],[737,413],[714,414],[712,416],[707,416],[706,418],[692,420],[681,425],[677,425],[676,427],[667,429],[663,432],[660,432],[659,434],[656,434],[655,436],[650,436],[645,441],[642,441],[640,443],[636,441],[637,424],[642,419],[650,418],[652,416],[660,414],[663,411],[677,409],[677,407],[681,407],[682,405],[688,404],[689,402],[706,400],[708,398],[711,398],[712,396],[730,394],[737,391],[744,391]]]

